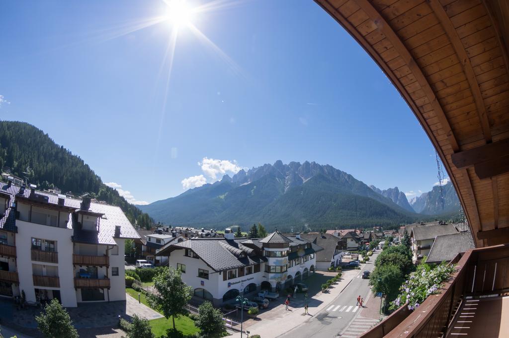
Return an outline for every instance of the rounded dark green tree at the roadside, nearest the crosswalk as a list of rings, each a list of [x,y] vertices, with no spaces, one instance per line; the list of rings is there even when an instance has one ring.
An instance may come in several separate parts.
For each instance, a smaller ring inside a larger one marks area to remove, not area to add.
[[[394,300],[399,293],[400,286],[405,281],[398,266],[388,264],[376,267],[370,276],[371,291],[381,292],[387,296],[387,302]]]

